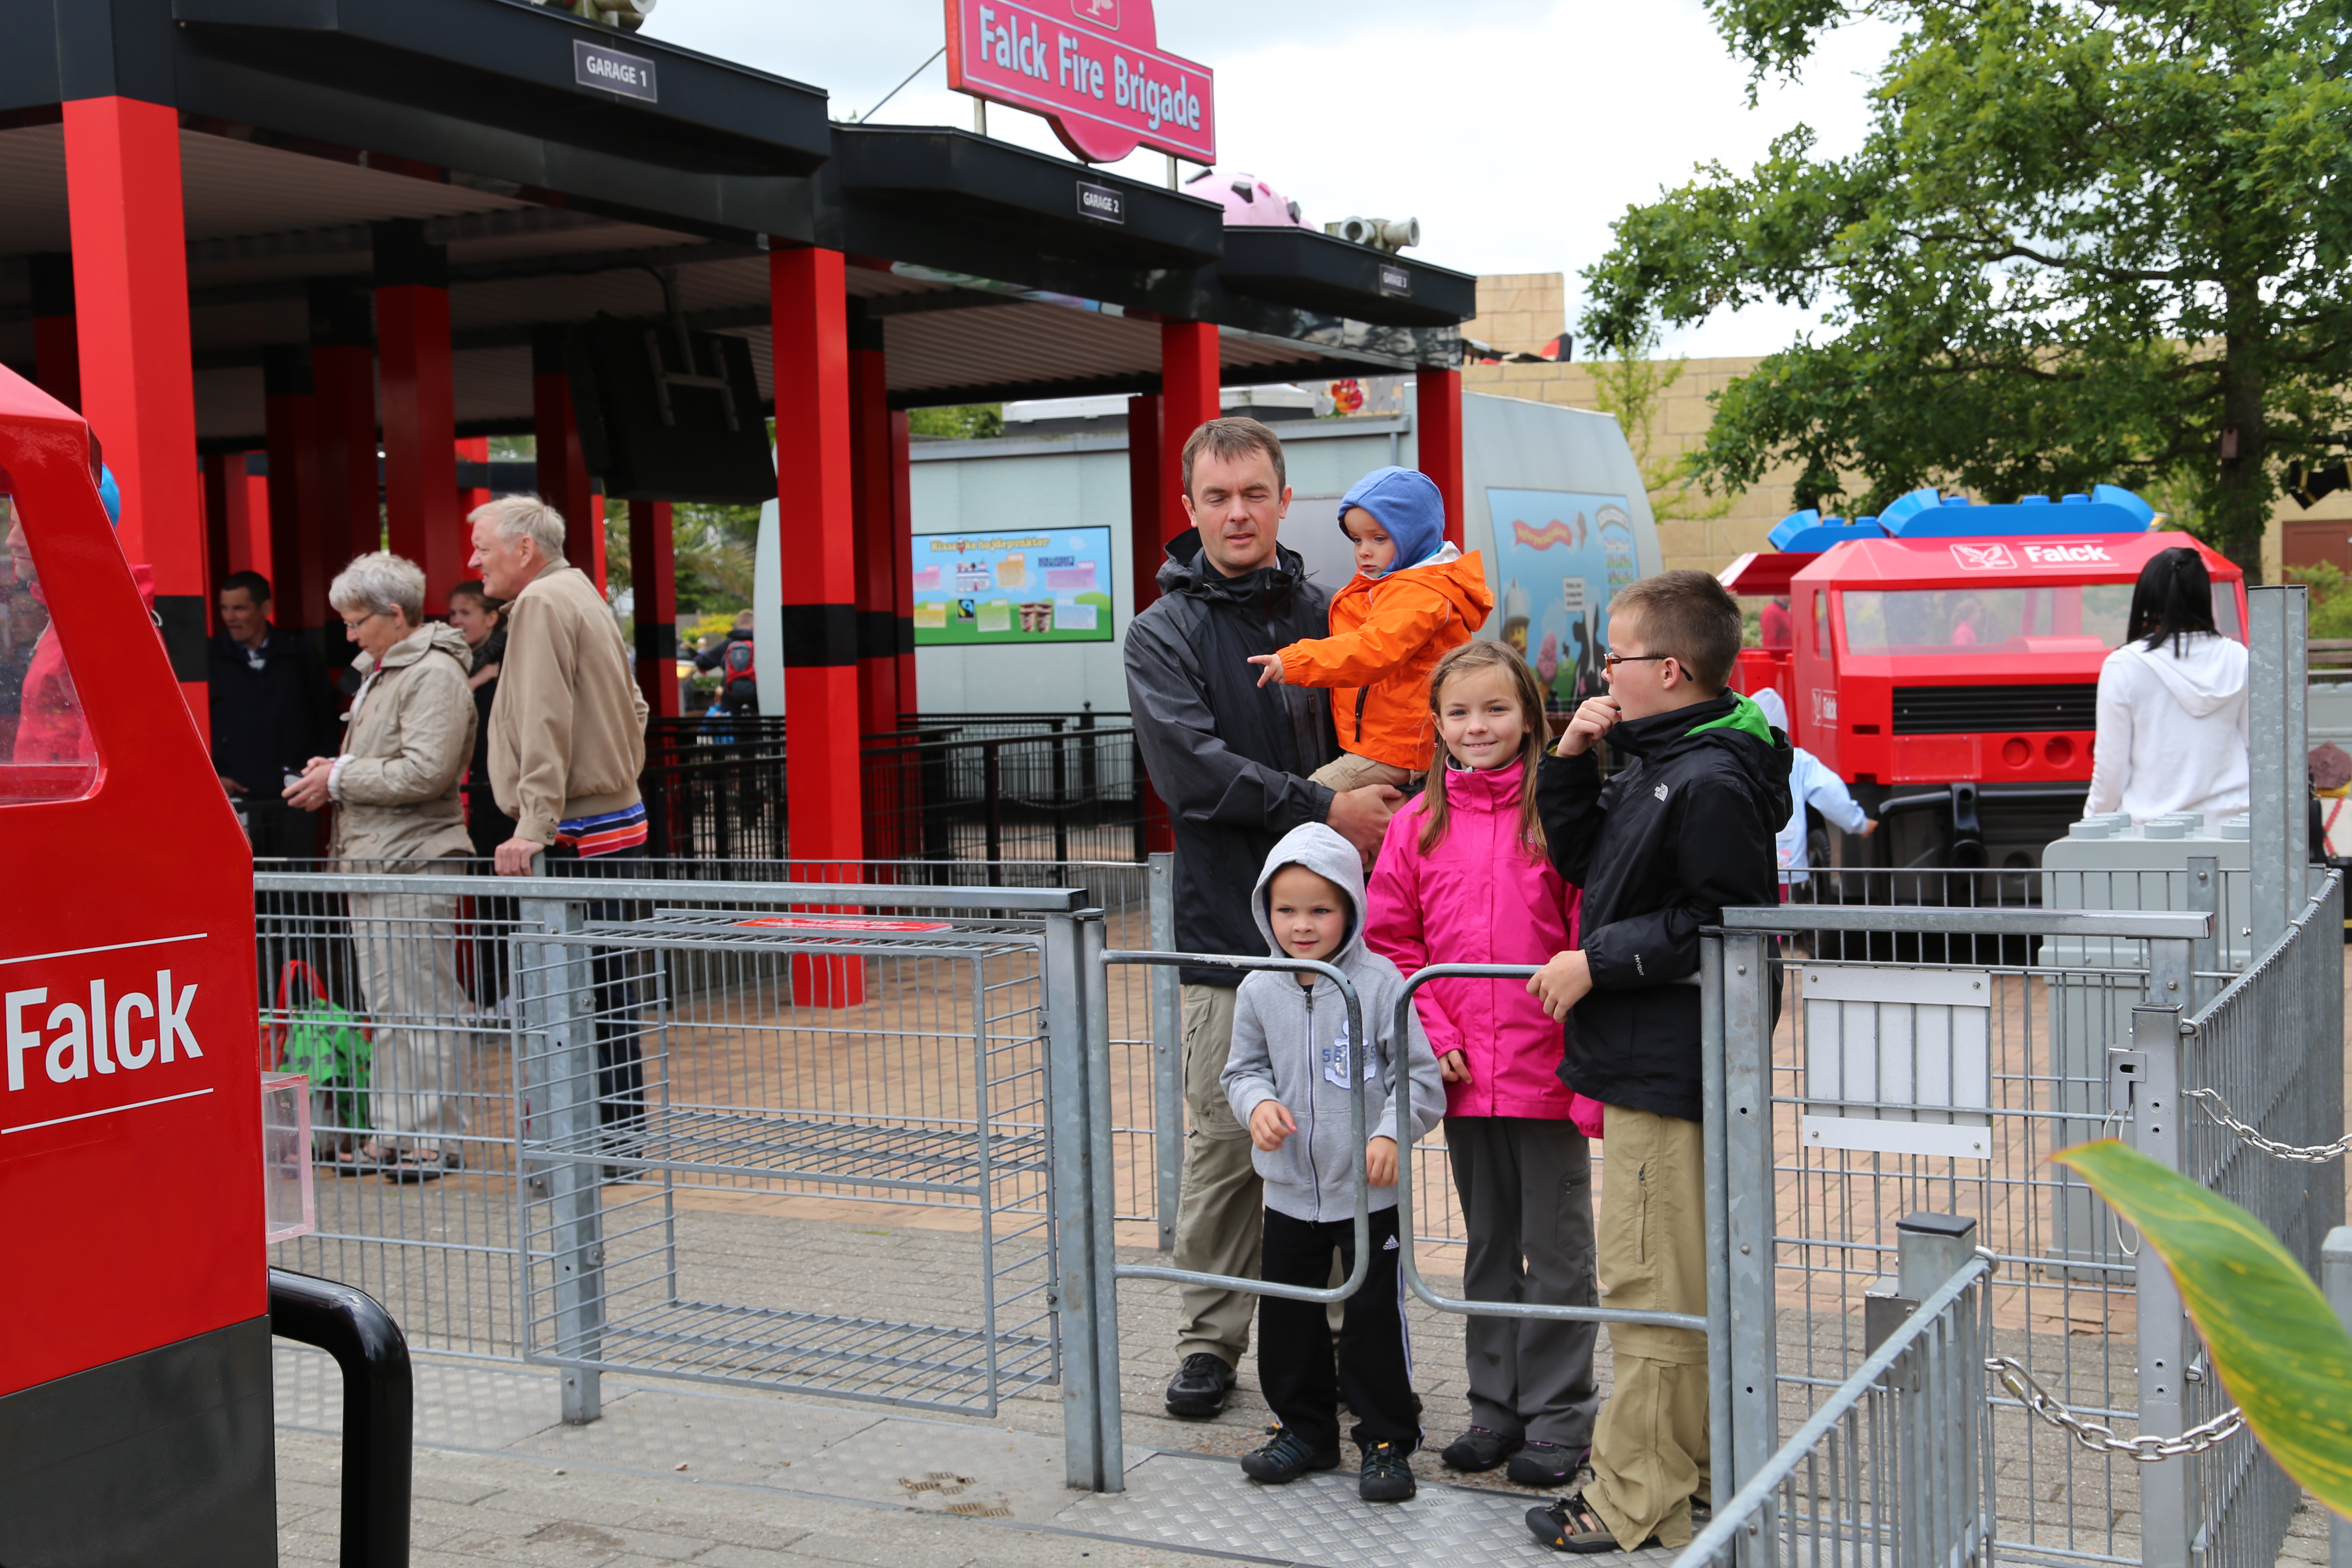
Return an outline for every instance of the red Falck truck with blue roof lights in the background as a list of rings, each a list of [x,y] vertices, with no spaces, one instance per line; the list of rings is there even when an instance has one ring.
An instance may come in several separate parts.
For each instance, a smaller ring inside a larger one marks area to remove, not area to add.
[[[1870,839],[1816,823],[1813,865],[2039,867],[2082,816],[2098,668],[2157,552],[2204,555],[2216,625],[2246,637],[2244,574],[2114,484],[2004,505],[1922,489],[1877,517],[1792,512],[1771,545],[1722,574],[1773,602],[1733,682],[1776,686],[1790,741],[1879,820]]]

